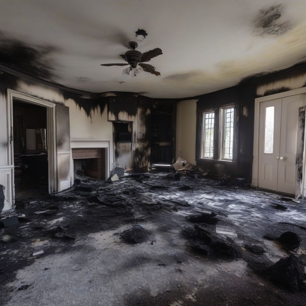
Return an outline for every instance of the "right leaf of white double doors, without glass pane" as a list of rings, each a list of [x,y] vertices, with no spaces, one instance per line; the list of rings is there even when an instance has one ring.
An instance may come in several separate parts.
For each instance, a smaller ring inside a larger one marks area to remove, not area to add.
[[[297,179],[297,130],[299,108],[306,105],[306,94],[282,98],[281,141],[277,190],[295,194]]]

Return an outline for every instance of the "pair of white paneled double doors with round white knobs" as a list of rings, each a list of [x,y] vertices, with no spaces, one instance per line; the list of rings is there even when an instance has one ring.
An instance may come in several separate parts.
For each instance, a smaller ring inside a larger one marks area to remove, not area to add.
[[[306,94],[260,103],[258,186],[295,194],[299,108]]]

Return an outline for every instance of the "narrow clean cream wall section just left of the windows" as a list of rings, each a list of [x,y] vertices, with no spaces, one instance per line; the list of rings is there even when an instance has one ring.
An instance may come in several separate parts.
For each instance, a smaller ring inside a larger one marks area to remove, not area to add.
[[[179,101],[176,119],[176,158],[181,156],[196,165],[196,103]]]

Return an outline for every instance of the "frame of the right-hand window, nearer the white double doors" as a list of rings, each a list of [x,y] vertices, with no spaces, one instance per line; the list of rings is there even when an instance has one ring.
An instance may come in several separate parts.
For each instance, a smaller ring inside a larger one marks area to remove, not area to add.
[[[233,108],[233,144],[232,144],[232,158],[225,158],[224,157],[224,142],[225,142],[225,125],[226,125],[226,109]],[[234,104],[229,104],[226,106],[220,107],[220,125],[219,125],[219,160],[223,160],[226,162],[233,162],[234,161],[234,156],[235,156],[235,139],[234,139],[234,134],[235,134],[235,128],[236,128],[236,107]]]

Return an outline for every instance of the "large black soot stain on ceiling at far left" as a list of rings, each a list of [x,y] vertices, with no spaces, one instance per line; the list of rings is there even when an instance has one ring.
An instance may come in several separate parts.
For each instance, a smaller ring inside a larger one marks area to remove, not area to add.
[[[29,76],[53,81],[52,46],[30,45],[0,34],[0,63]]]

